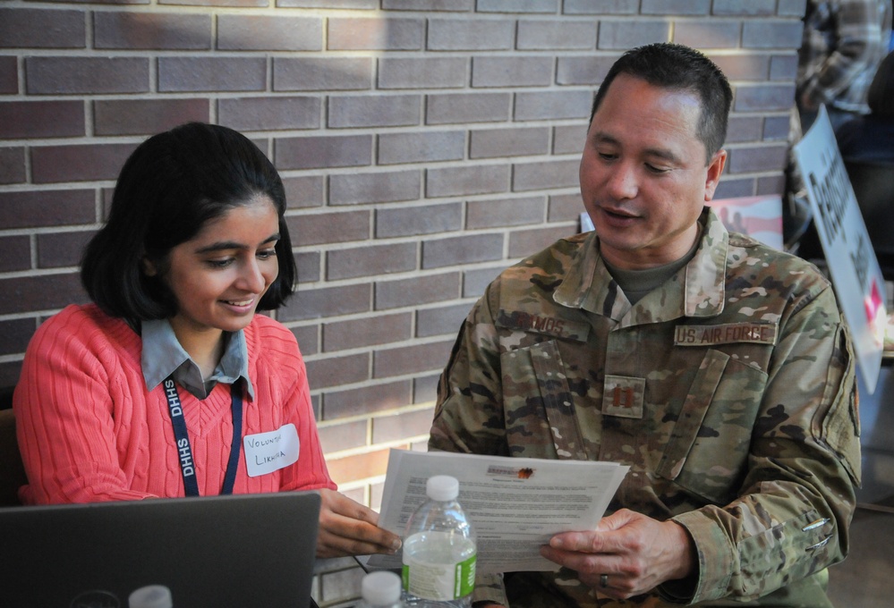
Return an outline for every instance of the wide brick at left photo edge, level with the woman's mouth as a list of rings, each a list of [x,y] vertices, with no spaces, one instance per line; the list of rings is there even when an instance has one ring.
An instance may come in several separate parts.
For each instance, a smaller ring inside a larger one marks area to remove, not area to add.
[[[0,280],[0,315],[52,310],[87,301],[81,275],[76,272]]]

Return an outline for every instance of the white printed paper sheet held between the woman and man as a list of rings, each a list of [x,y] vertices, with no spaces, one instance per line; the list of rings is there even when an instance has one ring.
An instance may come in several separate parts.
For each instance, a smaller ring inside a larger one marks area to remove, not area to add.
[[[434,475],[459,480],[481,573],[557,570],[540,546],[558,532],[596,527],[629,467],[616,462],[540,460],[391,450],[379,526],[404,536]],[[373,555],[370,568],[400,568],[400,554]]]

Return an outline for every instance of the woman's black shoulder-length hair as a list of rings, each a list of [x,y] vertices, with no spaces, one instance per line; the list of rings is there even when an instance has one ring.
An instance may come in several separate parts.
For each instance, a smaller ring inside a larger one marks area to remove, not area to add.
[[[173,317],[174,294],[160,275],[143,272],[142,260],[166,268],[171,249],[259,195],[270,198],[279,215],[279,274],[258,308],[279,308],[292,295],[298,274],[285,224],[283,182],[250,139],[202,122],[154,135],[128,157],[108,220],[84,249],[81,283],[107,315],[132,325]]]

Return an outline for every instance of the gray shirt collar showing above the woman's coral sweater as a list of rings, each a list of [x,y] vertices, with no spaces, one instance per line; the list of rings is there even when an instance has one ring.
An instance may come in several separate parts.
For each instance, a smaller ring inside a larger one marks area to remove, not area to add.
[[[143,321],[141,336],[143,351],[140,360],[149,391],[164,382],[167,376],[173,375],[177,384],[198,399],[205,399],[218,382],[233,384],[237,378],[242,377],[249,396],[254,399],[254,387],[248,376],[248,347],[245,345],[243,330],[224,333],[224,355],[214,368],[214,373],[204,382],[199,366],[183,350],[167,319]]]

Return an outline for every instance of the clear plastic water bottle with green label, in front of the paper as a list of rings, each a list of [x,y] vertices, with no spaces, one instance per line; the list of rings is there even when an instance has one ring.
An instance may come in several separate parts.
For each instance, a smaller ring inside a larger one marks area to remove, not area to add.
[[[406,524],[404,604],[410,608],[469,608],[475,587],[475,536],[456,501],[456,477],[437,475],[429,499]]]

